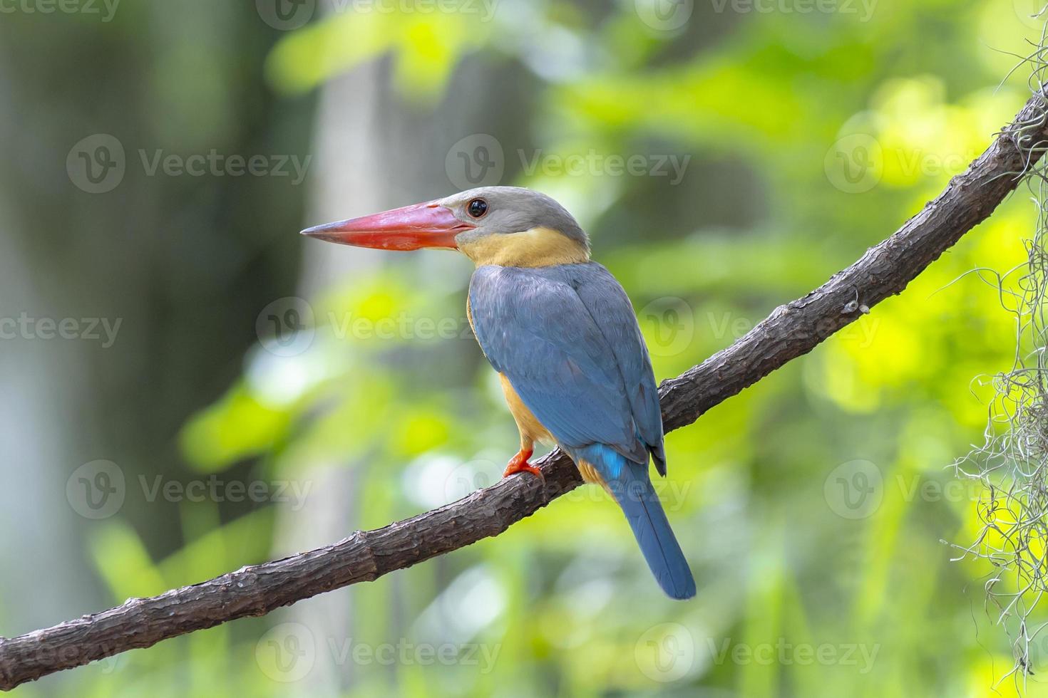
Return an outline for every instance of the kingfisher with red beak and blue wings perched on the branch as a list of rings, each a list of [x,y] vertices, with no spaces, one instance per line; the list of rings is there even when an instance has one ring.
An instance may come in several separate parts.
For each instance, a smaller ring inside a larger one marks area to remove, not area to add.
[[[648,566],[673,599],[695,579],[649,476],[665,476],[651,358],[626,291],[590,258],[589,237],[552,198],[483,186],[307,228],[311,238],[384,250],[457,250],[476,268],[466,317],[498,373],[520,432],[504,476],[542,471],[538,442],[559,446],[583,479],[621,508]]]

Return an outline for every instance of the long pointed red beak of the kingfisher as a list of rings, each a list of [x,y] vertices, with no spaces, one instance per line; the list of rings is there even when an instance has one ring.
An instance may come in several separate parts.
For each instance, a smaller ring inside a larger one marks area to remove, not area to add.
[[[302,234],[377,250],[458,249],[455,235],[477,226],[435,201],[306,228]]]

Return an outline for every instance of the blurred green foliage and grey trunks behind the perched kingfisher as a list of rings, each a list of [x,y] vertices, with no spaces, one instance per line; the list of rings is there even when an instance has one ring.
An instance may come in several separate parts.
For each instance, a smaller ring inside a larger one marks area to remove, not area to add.
[[[659,380],[894,231],[1029,91],[1036,0],[0,3],[0,634],[499,477],[468,261],[306,225],[545,192]],[[1013,695],[970,543],[1021,189],[899,297],[669,434],[699,594],[584,488],[504,535],[14,695]],[[1030,695],[1048,638],[1030,650]],[[995,688],[996,686],[996,688]]]

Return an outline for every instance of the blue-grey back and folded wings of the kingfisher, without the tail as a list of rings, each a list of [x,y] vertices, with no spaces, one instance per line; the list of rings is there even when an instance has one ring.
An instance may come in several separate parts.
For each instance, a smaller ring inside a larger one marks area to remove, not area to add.
[[[633,307],[596,263],[480,267],[470,284],[477,340],[562,446],[649,452],[665,474],[662,419]]]

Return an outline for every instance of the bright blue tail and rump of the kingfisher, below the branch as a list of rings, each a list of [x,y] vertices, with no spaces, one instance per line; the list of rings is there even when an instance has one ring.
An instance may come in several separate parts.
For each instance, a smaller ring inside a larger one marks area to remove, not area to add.
[[[652,488],[647,464],[641,468],[603,444],[578,449],[575,454],[591,464],[608,485],[662,590],[673,599],[694,596],[695,578]]]

